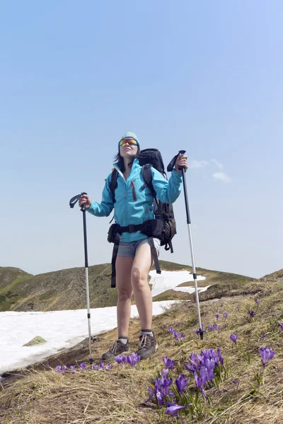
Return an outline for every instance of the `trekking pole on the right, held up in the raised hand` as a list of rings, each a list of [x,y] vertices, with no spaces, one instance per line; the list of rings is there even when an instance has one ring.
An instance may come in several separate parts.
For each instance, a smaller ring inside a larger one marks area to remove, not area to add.
[[[181,153],[181,155],[185,154],[185,151],[179,151],[178,155]],[[176,159],[178,158],[178,155],[175,155],[175,157],[171,160],[171,163],[169,163],[167,170],[168,171],[172,171],[173,167],[175,166],[175,162]],[[197,290],[197,272],[195,270],[195,257],[194,257],[194,250],[192,247],[192,231],[190,228],[190,209],[189,209],[189,201],[187,199],[187,184],[186,184],[186,179],[185,179],[185,170],[182,167],[182,177],[183,177],[183,187],[184,187],[184,196],[185,196],[185,208],[186,208],[186,213],[187,213],[187,230],[189,232],[189,240],[190,240],[190,256],[192,259],[192,277],[194,278],[194,282],[195,282],[195,300],[197,303],[197,317],[198,317],[198,321],[199,321],[199,333],[200,333],[200,339],[203,339],[203,335],[204,335],[204,329],[202,327],[202,319],[200,317],[200,301],[199,301],[199,293]]]

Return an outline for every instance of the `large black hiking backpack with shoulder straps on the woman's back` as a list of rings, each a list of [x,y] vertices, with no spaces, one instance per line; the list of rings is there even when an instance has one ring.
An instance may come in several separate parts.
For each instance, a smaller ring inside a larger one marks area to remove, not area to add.
[[[176,234],[176,223],[174,218],[173,205],[163,203],[160,200],[156,199],[156,192],[154,191],[154,187],[152,184],[151,166],[155,167],[156,170],[158,170],[163,175],[163,177],[167,179],[161,153],[156,148],[146,148],[139,153],[138,159],[139,159],[139,165],[142,166],[142,177],[144,178],[144,182],[146,186],[151,189],[151,192],[154,196],[154,215],[156,218],[156,223],[158,223],[158,229],[156,228],[156,232],[158,232],[158,238],[160,238],[161,240],[161,246],[164,246],[166,250],[170,249],[171,253],[173,253],[173,246],[172,246],[171,240]],[[111,182],[110,182],[110,191],[112,193],[114,202],[115,202],[115,189],[117,188],[117,177],[118,177],[117,170],[113,170],[112,176],[111,176]],[[135,227],[137,228],[138,226],[135,225]],[[151,222],[151,228],[152,227],[153,225]],[[116,230],[117,228],[115,227],[115,225],[112,225],[112,227],[110,227],[110,231],[108,232],[109,242],[115,243]],[[127,228],[124,228],[124,231],[126,230]],[[113,234],[113,231],[114,231],[114,234]],[[119,237],[119,235],[117,235],[117,237]],[[154,237],[154,234],[153,235],[151,234],[151,237]],[[156,266],[156,272],[161,273],[161,270],[158,264],[156,250],[154,248],[151,237],[149,238],[150,238],[151,252],[153,254],[154,263]],[[116,249],[115,249],[116,254],[114,254],[114,250],[113,250],[113,257],[112,257],[112,287],[115,287],[115,259],[116,259],[115,256],[117,256],[117,243],[118,243],[118,240],[116,239]]]

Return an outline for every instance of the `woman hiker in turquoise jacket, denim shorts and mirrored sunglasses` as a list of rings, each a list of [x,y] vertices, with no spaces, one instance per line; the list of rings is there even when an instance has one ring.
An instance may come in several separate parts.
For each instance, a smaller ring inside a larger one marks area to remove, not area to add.
[[[79,205],[86,204],[88,212],[95,216],[109,216],[112,208],[115,208],[115,222],[121,226],[137,225],[154,219],[154,197],[149,187],[144,188],[141,166],[137,159],[139,151],[139,139],[136,134],[132,132],[124,134],[119,141],[119,151],[115,156],[114,167],[118,172],[115,200],[110,190],[112,175],[110,174],[105,180],[101,203],[92,202],[90,197],[84,194]],[[168,181],[158,170],[151,167],[152,184],[156,197],[163,203],[173,203],[180,195],[182,170],[179,170],[179,167],[187,170],[186,156],[178,155],[175,169]],[[157,254],[160,243],[160,240],[154,238]],[[123,232],[116,259],[118,338],[110,346],[109,351],[103,353],[103,360],[109,360],[116,355],[129,352],[128,328],[132,295],[134,295],[141,322],[137,354],[144,359],[156,353],[158,343],[151,329],[152,297],[148,283],[152,263],[149,237],[140,231]]]

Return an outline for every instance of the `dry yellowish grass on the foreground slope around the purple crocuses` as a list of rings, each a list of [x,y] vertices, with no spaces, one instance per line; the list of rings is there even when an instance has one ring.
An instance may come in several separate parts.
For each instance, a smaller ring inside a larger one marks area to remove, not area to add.
[[[164,416],[165,408],[158,411],[156,405],[144,404],[148,397],[146,388],[163,367],[162,357],[175,359],[174,377],[184,370],[184,363],[193,351],[199,353],[206,348],[221,348],[227,375],[219,388],[207,389],[212,399],[209,404],[202,400],[202,414],[192,420],[182,418],[183,423],[217,424],[279,424],[283,423],[283,331],[277,322],[283,322],[282,283],[258,281],[260,305],[251,319],[248,310],[256,310],[255,283],[241,287],[246,295],[233,298],[207,300],[201,303],[204,326],[219,317],[220,333],[209,332],[201,341],[194,333],[197,328],[197,314],[192,302],[183,302],[163,315],[154,318],[154,331],[158,338],[159,350],[156,355],[130,368],[114,364],[112,370],[84,370],[72,375],[54,372],[52,368],[33,367],[21,372],[21,377],[4,380],[0,387],[0,423],[18,424],[91,424],[91,423],[173,423],[175,418]],[[282,289],[282,290],[279,290]],[[223,313],[228,312],[224,319]],[[275,314],[275,317],[272,317]],[[173,326],[187,336],[185,342],[176,344],[168,328]],[[232,333],[238,334],[237,346],[230,340]],[[265,338],[260,338],[266,333]],[[132,341],[137,341],[139,322],[130,325]],[[100,341],[93,342],[93,356],[99,357],[115,331],[103,334]],[[265,384],[258,384],[255,375],[262,377],[260,347],[275,349],[275,358],[266,367]],[[132,344],[134,350],[136,346]],[[63,352],[49,363],[71,365],[76,360],[87,360],[87,346]],[[233,380],[238,379],[238,384]],[[16,381],[15,381],[16,380]],[[195,382],[190,380],[190,387]]]

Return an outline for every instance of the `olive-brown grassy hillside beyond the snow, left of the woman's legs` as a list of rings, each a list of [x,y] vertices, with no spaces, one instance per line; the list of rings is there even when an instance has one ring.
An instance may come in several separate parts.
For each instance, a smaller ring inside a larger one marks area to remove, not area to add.
[[[116,290],[110,290],[110,264],[90,266],[88,278],[91,307],[115,305]],[[13,281],[2,295],[6,302],[0,302],[0,311],[47,311],[80,309],[86,306],[85,269],[73,268],[30,276],[22,281]]]

